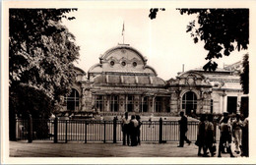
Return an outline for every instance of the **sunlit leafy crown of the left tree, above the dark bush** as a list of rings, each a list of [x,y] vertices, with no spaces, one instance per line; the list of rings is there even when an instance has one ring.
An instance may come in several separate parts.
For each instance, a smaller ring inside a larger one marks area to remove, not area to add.
[[[75,36],[61,25],[61,19],[72,10],[10,9],[11,88],[25,83],[55,100],[70,91],[79,47]]]

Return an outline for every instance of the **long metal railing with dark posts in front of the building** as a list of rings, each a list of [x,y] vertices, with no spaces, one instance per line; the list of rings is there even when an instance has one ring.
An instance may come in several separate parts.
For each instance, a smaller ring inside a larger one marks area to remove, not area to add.
[[[17,120],[17,139],[45,139],[54,142],[76,141],[122,141],[121,121],[89,120],[32,120],[32,133],[28,120]],[[198,122],[188,122],[187,138],[195,141]],[[23,128],[23,129],[21,129]],[[218,126],[216,126],[218,128]],[[217,130],[216,139],[220,139]],[[142,121],[141,141],[177,141],[179,124],[177,121]]]

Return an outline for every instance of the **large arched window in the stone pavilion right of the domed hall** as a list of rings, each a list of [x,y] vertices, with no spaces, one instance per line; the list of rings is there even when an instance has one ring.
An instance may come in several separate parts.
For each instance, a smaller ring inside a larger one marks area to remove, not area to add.
[[[182,97],[182,109],[186,114],[190,114],[191,110],[197,109],[197,96],[193,91],[186,92]]]

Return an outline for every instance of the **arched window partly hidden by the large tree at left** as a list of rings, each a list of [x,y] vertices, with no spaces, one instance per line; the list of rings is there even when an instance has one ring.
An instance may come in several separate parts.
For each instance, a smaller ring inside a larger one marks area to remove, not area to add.
[[[66,102],[68,111],[78,111],[79,110],[78,90],[72,88],[70,95],[65,97],[65,102]]]

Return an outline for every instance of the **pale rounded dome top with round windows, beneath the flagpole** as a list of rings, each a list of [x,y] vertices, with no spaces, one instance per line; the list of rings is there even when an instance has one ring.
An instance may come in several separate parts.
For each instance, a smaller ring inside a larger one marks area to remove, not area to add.
[[[147,65],[147,58],[128,44],[118,44],[99,57],[99,63],[90,70],[90,75],[119,73],[120,75],[151,75],[157,72]]]

